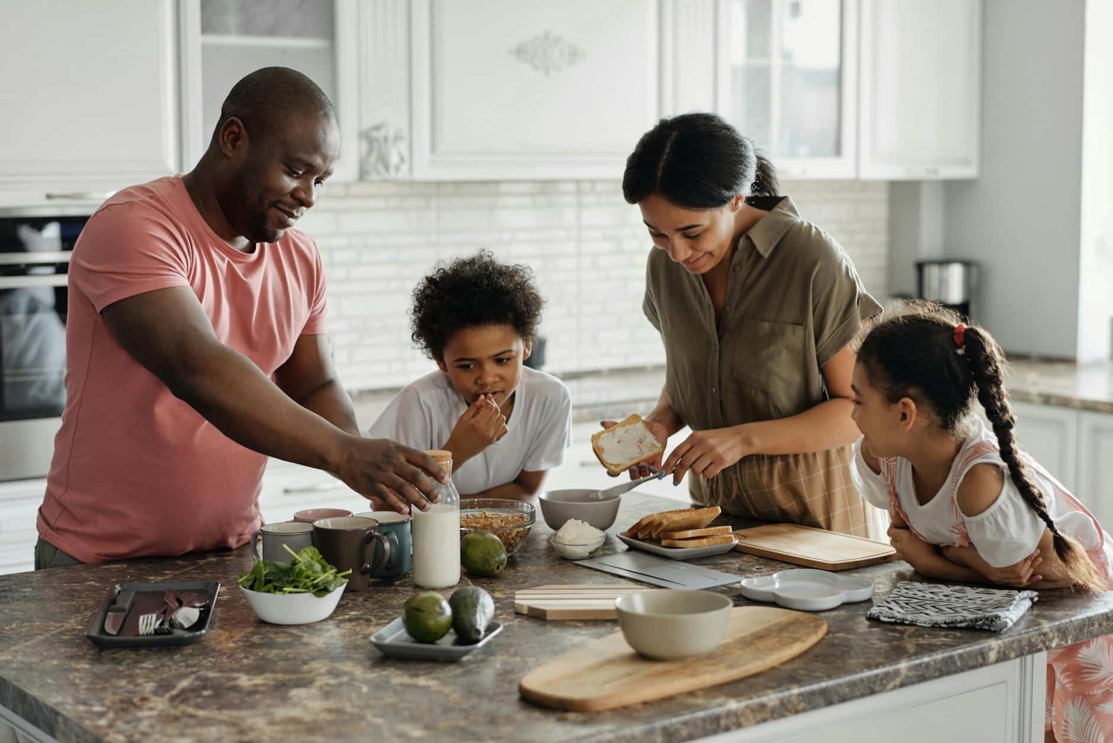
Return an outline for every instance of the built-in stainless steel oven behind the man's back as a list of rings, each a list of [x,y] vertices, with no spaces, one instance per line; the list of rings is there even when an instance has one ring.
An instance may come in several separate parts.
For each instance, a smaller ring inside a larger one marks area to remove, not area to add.
[[[67,274],[88,217],[0,217],[0,481],[50,467],[66,405]]]

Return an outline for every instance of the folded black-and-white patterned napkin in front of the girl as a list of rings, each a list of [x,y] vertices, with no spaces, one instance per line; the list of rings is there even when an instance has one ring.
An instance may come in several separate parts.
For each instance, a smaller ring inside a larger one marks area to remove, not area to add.
[[[902,581],[866,614],[870,620],[922,627],[969,627],[1001,632],[1036,601],[1035,591],[975,588]]]

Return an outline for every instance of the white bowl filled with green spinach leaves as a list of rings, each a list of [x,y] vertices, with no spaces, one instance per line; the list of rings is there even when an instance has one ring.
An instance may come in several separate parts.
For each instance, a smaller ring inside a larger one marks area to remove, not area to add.
[[[295,553],[290,562],[256,559],[237,583],[252,610],[270,624],[312,624],[336,610],[349,571],[337,573],[316,547]]]

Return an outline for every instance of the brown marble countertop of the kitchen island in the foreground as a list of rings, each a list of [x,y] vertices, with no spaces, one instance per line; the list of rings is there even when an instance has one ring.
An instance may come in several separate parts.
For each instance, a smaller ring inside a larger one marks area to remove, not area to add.
[[[617,522],[676,507],[627,496]],[[742,522],[732,521],[736,525]],[[805,654],[749,678],[603,713],[561,713],[518,695],[526,672],[617,630],[613,622],[545,623],[513,613],[515,591],[621,578],[563,561],[539,523],[492,593],[505,624],[454,664],[393,661],[368,642],[398,615],[408,579],[346,594],[318,624],[276,626],[252,613],[235,577],[245,548],[0,576],[0,706],[66,741],[392,740],[673,741],[711,735],[1113,633],[1113,594],[1045,592],[1002,634],[867,621],[867,604],[823,614],[828,634]],[[607,547],[620,551],[613,535]],[[730,553],[700,561],[741,576],[786,567]],[[876,594],[913,577],[904,563],[854,574]],[[98,651],[86,625],[119,581],[216,578],[210,631],[180,648]],[[627,583],[627,582],[622,582]],[[748,603],[725,588],[736,604]]]

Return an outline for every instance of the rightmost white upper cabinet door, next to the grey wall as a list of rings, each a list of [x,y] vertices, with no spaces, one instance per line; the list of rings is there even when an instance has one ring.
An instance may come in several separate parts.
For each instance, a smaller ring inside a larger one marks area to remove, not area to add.
[[[858,175],[975,178],[981,0],[861,0]]]

